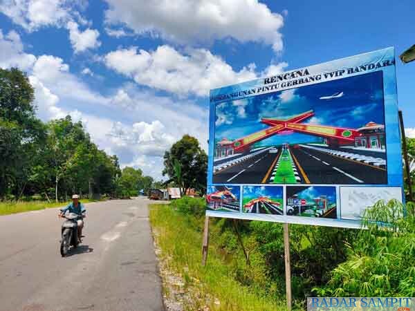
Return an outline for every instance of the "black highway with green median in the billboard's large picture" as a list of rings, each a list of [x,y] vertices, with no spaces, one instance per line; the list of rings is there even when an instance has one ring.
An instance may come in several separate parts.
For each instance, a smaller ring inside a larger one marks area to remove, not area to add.
[[[385,153],[309,144],[264,148],[214,166],[215,183],[382,184]]]

